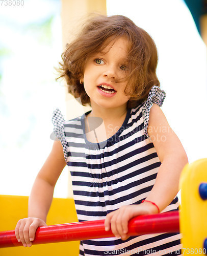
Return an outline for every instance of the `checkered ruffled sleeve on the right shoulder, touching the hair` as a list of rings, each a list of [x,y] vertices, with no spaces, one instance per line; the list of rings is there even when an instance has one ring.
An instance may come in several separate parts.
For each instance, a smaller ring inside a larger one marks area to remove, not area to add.
[[[147,133],[147,127],[149,122],[149,112],[152,106],[152,103],[155,103],[159,106],[162,106],[163,101],[166,97],[166,93],[160,89],[158,86],[153,86],[149,92],[147,100],[144,102],[143,105],[143,118],[144,118],[144,133],[149,138]]]

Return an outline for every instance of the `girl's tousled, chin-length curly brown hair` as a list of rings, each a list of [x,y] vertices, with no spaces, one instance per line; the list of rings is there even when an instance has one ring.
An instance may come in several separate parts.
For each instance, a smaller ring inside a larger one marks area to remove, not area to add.
[[[129,42],[127,59],[130,72],[125,94],[130,95],[130,99],[127,108],[134,108],[143,102],[152,86],[160,86],[156,75],[157,48],[149,34],[125,16],[97,15],[89,18],[76,39],[67,45],[57,78],[66,79],[68,92],[75,98],[80,97],[83,105],[90,105],[90,98],[80,83],[87,58],[121,36]]]

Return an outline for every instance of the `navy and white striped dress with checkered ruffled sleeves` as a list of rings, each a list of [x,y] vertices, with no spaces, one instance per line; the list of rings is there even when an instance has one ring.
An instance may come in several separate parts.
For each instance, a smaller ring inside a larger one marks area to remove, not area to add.
[[[152,87],[148,98],[127,111],[118,132],[101,143],[89,142],[85,117],[65,121],[60,110],[53,115],[54,133],[61,140],[72,178],[79,221],[105,219],[122,205],[140,204],[152,189],[161,162],[147,134],[152,103],[162,105],[165,92]],[[163,212],[176,210],[175,197]],[[180,255],[179,233],[81,241],[80,255]]]

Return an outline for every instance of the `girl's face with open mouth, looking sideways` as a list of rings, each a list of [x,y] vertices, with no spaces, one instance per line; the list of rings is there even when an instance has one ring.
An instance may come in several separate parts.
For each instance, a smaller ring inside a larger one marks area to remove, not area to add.
[[[90,56],[84,70],[84,88],[91,106],[126,108],[130,96],[124,94],[126,80],[116,81],[127,75],[127,48],[124,37],[112,42],[102,52]]]

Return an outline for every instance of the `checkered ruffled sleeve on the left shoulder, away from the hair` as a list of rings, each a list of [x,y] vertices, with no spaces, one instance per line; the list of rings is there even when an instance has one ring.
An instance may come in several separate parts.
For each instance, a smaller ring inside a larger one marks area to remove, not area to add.
[[[61,141],[62,146],[63,146],[63,153],[64,153],[64,158],[65,161],[67,162],[67,141],[65,139],[65,131],[64,131],[64,118],[63,115],[61,114],[59,109],[56,109],[53,112],[53,118],[52,122],[54,124],[54,133],[55,136]]]

